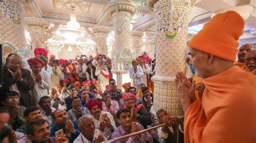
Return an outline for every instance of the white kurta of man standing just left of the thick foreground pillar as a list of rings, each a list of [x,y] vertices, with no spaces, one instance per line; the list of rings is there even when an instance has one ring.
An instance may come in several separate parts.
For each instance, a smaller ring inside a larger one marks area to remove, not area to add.
[[[132,66],[129,70],[129,75],[131,78],[132,87],[135,87],[137,90],[140,89],[139,85],[142,84],[143,69],[140,66],[137,66],[137,72],[134,73],[134,67]]]

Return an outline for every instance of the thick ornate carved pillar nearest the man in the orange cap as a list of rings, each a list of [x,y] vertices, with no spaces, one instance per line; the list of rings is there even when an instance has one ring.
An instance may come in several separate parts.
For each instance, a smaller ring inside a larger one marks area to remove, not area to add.
[[[191,1],[150,0],[147,2],[157,21],[156,75],[153,111],[165,109],[171,116],[184,114],[174,84],[178,71],[186,68],[186,38]]]

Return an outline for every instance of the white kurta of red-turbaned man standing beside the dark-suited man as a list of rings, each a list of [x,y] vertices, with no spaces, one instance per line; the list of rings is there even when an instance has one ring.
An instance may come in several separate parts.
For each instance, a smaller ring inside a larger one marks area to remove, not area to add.
[[[48,96],[48,89],[50,88],[51,85],[51,76],[50,74],[42,70],[41,71],[41,77],[42,77],[42,83],[37,83],[36,82],[36,75],[31,71],[31,76],[33,78],[33,81],[35,82],[35,86],[33,87],[32,90],[29,91],[29,94],[32,95],[34,98],[34,101],[36,104],[38,104],[39,99],[43,96]]]

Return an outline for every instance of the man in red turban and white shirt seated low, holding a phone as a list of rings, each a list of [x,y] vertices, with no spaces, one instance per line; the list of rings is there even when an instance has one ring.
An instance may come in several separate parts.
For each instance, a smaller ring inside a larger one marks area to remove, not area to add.
[[[102,111],[102,103],[98,100],[89,101],[86,106],[93,116],[95,128],[102,131],[106,139],[110,139],[112,132],[117,128],[111,113]]]

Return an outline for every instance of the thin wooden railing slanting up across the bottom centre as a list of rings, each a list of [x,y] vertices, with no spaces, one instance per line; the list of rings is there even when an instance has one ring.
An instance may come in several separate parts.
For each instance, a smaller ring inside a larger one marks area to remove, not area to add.
[[[151,131],[151,130],[154,130],[156,128],[163,127],[164,125],[165,124],[160,124],[160,125],[157,125],[157,126],[154,126],[154,127],[147,128],[147,129],[142,130],[142,131],[130,133],[130,134],[124,135],[122,137],[114,138],[114,139],[107,140],[107,141],[104,141],[104,142],[118,141],[118,140],[122,140],[122,139],[125,139],[125,138],[132,137],[133,135],[141,134],[141,133],[144,133],[144,142],[146,142],[147,141],[147,139],[146,139],[147,138],[147,131]]]

